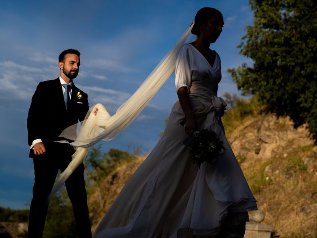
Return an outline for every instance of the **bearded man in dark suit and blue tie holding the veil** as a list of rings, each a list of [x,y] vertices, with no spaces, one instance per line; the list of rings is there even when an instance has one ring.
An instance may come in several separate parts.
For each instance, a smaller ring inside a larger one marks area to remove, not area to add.
[[[87,94],[73,83],[80,65],[80,53],[63,51],[58,57],[60,76],[40,82],[32,97],[27,127],[30,157],[34,163],[33,198],[29,217],[29,238],[42,238],[48,203],[58,170],[64,171],[74,153],[72,146],[54,142],[66,127],[85,119],[89,110]],[[65,182],[73,206],[79,238],[91,238],[91,228],[81,164]],[[61,214],[61,216],[63,216]]]

